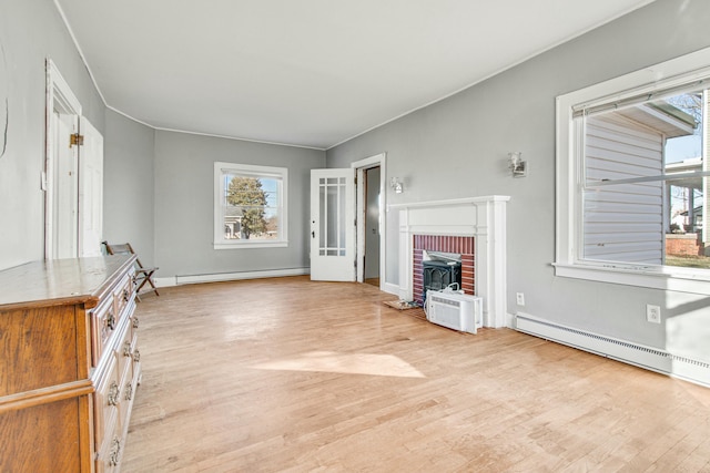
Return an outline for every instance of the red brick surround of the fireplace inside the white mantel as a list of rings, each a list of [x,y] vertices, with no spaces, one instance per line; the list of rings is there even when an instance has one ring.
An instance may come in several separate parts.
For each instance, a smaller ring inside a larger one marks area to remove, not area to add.
[[[474,290],[474,237],[445,235],[414,235],[413,273],[414,301],[422,304],[424,296],[422,265],[424,250],[462,255],[462,289],[475,296]]]

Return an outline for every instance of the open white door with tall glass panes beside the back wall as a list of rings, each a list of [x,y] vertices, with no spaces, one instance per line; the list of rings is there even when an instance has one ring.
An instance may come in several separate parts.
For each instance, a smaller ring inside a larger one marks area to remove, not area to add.
[[[355,280],[355,173],[311,171],[311,279]]]

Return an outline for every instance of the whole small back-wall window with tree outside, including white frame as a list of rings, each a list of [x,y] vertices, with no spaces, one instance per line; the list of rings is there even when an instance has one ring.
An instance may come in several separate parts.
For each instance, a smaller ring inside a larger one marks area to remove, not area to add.
[[[214,248],[288,245],[288,169],[214,163]]]

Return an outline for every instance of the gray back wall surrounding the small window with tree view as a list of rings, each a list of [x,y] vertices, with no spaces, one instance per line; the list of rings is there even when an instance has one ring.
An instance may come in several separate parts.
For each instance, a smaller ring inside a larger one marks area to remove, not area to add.
[[[288,168],[287,248],[213,249],[215,161]],[[323,151],[158,131],[158,276],[310,267],[310,181],[317,167],[325,167]]]

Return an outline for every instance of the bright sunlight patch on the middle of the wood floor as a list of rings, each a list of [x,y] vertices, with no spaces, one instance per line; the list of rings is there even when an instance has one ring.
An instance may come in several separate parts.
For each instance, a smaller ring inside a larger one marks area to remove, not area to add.
[[[257,370],[321,371],[378,377],[425,378],[406,361],[392,354],[311,351],[296,358],[255,364]]]

